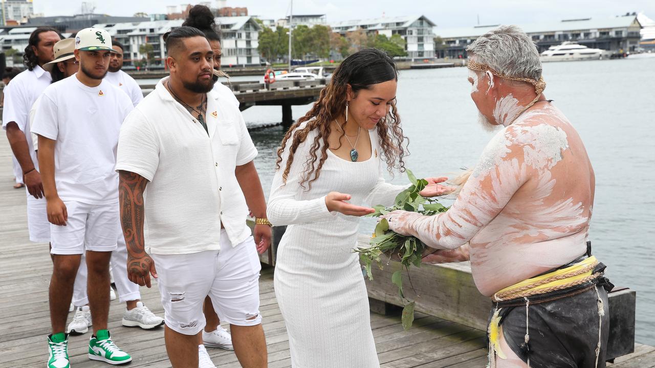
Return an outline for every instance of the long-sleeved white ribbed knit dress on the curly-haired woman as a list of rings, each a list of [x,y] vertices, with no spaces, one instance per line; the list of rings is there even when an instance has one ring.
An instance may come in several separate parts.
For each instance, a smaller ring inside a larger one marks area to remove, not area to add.
[[[286,185],[282,172],[288,149],[284,152],[267,211],[273,225],[288,225],[277,251],[274,287],[289,334],[291,366],[379,367],[364,276],[352,252],[359,217],[328,212],[325,196],[337,191],[350,194],[352,204],[390,205],[405,187],[384,183],[386,163],[374,129],[369,160],[350,162],[328,150],[320,176],[303,190],[299,181],[315,136],[310,132],[299,145]]]

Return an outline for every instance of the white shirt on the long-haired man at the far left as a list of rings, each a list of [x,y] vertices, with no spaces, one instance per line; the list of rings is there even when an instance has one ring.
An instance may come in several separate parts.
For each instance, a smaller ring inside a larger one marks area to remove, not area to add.
[[[34,152],[29,126],[29,110],[41,93],[52,83],[52,76],[39,65],[32,70],[22,71],[11,80],[11,88],[5,88],[5,105],[2,113],[2,128],[7,130],[9,122],[16,122],[28,140],[29,154],[34,167],[39,170],[39,162]]]

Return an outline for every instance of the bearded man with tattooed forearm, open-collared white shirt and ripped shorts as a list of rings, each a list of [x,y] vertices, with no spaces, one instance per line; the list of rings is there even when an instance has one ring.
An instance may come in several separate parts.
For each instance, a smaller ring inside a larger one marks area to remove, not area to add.
[[[151,274],[159,278],[173,367],[198,367],[206,295],[230,323],[242,366],[266,367],[255,242],[268,248],[271,229],[257,150],[234,104],[212,91],[213,52],[204,34],[183,26],[164,37],[170,77],[130,113],[119,139],[128,275],[148,287]],[[261,224],[254,241],[248,208]]]

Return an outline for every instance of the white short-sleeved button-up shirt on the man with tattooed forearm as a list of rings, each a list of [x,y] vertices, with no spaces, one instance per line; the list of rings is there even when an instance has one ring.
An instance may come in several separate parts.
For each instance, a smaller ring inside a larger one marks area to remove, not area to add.
[[[145,247],[153,254],[218,250],[221,222],[236,246],[251,234],[246,199],[234,175],[236,166],[257,156],[246,123],[233,102],[212,90],[208,134],[162,81],[125,119],[116,163],[116,170],[149,181]]]

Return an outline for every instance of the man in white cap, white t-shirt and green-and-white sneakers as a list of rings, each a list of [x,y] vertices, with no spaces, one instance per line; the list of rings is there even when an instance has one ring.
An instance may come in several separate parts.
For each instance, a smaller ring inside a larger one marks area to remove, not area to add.
[[[111,37],[86,28],[75,37],[79,72],[43,92],[32,131],[39,136],[39,166],[47,200],[54,270],[50,281],[48,368],[70,367],[65,334],[73,282],[86,252],[88,299],[94,334],[88,358],[122,364],[132,358],[107,331],[109,259],[120,229],[118,175],[114,172],[122,121],[132,101],[103,81]]]

